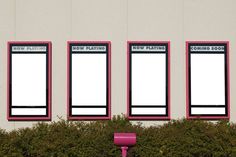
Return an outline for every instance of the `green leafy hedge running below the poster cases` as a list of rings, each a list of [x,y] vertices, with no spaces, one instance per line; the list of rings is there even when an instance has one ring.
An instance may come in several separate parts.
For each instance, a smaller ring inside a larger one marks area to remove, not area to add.
[[[227,121],[173,120],[161,126],[111,121],[38,123],[0,130],[0,157],[120,157],[114,132],[136,132],[129,157],[236,157],[236,125]]]

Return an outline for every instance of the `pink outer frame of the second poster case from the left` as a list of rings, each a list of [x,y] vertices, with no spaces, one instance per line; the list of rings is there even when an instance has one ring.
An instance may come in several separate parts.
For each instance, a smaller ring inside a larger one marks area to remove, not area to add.
[[[70,44],[108,44],[108,116],[70,116]],[[111,119],[111,41],[67,41],[67,119],[68,120],[110,120]]]

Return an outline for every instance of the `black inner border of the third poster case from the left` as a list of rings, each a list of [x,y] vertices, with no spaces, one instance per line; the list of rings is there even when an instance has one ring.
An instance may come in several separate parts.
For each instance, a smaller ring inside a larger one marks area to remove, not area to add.
[[[169,47],[168,47],[168,43],[129,43],[128,45],[129,47],[129,115],[131,117],[168,117],[169,113],[168,113],[168,69],[169,69],[169,64],[168,64],[168,57],[169,57]],[[165,46],[165,51],[132,51],[132,46]],[[166,54],[166,104],[165,105],[132,105],[132,54]],[[146,108],[166,108],[166,114],[132,114],[132,108],[137,108],[137,107],[146,107]]]

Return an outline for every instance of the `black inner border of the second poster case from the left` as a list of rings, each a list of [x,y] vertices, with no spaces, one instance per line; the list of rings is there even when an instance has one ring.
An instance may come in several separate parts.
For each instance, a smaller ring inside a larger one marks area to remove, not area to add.
[[[72,46],[105,46],[106,51],[72,51]],[[109,104],[109,44],[108,43],[70,43],[69,44],[69,63],[70,63],[70,69],[69,69],[69,116],[70,117],[108,117],[108,104]],[[106,104],[104,106],[99,105],[72,105],[72,54],[106,54]],[[72,108],[106,108],[106,115],[98,115],[98,114],[88,114],[88,115],[72,115]]]

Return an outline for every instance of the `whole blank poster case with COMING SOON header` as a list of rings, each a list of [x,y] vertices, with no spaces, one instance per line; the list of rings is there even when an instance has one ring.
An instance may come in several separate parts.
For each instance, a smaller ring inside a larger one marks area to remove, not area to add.
[[[187,42],[190,118],[228,117],[228,43]]]

